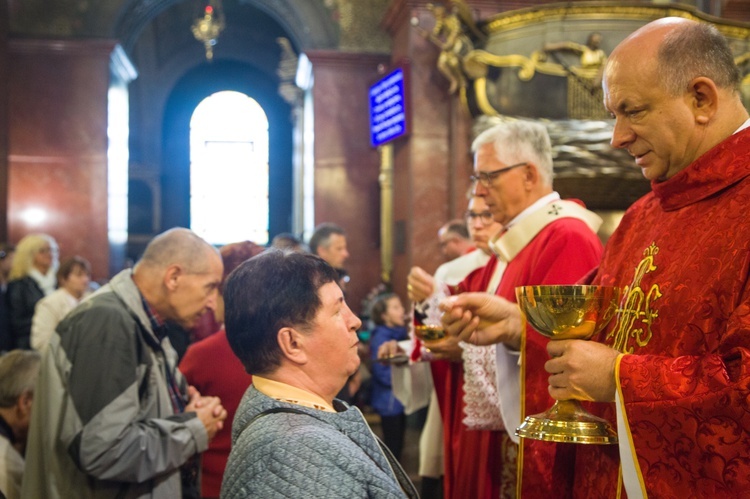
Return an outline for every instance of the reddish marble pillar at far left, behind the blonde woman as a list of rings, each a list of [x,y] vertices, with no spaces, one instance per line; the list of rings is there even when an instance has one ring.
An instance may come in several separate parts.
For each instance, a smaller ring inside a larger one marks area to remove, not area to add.
[[[107,91],[114,42],[9,43],[8,232],[52,235],[109,276]]]

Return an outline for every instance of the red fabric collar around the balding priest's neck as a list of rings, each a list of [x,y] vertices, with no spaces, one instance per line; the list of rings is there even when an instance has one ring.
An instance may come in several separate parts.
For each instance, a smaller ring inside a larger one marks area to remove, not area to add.
[[[651,189],[665,211],[678,210],[702,201],[750,175],[745,158],[750,150],[748,123],[663,182],[652,181]]]

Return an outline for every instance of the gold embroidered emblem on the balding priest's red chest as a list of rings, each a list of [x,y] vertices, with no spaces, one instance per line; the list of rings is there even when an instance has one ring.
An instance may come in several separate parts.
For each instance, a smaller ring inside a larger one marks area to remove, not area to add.
[[[659,317],[659,311],[653,307],[661,298],[658,284],[652,284],[646,290],[641,286],[643,277],[656,270],[656,255],[659,247],[655,242],[643,251],[643,259],[635,269],[632,282],[625,287],[624,299],[617,311],[617,323],[607,335],[613,339],[612,348],[622,353],[633,353],[637,347],[644,347],[651,341],[651,325]]]

